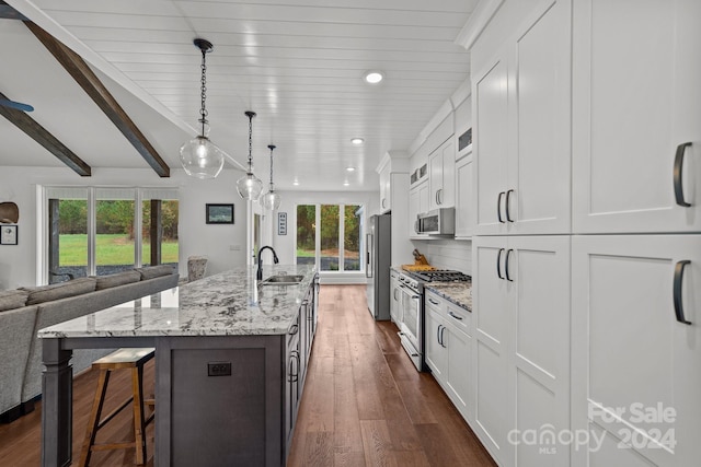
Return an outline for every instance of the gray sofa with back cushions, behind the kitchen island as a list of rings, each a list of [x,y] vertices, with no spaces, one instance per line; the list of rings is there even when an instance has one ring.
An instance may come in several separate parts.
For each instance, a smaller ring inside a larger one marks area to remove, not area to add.
[[[177,279],[171,266],[161,265],[0,292],[0,421],[32,411],[42,393],[39,329],[171,289]],[[73,374],[111,351],[76,350]]]

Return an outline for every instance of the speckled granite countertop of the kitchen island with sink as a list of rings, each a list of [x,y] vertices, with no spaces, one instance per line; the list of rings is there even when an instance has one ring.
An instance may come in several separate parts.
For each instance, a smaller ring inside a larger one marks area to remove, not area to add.
[[[315,275],[314,266],[263,267],[263,278],[300,275],[298,285],[257,285],[242,267],[60,323],[43,338],[250,336],[287,334]]]

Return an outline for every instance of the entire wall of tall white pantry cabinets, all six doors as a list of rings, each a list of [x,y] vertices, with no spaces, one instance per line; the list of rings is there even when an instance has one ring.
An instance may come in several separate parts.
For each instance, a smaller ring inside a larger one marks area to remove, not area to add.
[[[701,458],[699,19],[506,0],[472,49],[471,424],[502,466]]]

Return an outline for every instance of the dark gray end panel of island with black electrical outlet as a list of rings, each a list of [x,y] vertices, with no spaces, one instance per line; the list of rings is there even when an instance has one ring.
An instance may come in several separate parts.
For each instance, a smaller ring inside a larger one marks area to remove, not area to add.
[[[158,464],[284,465],[284,341],[285,336],[159,339]],[[210,364],[230,365],[231,374],[209,375]]]

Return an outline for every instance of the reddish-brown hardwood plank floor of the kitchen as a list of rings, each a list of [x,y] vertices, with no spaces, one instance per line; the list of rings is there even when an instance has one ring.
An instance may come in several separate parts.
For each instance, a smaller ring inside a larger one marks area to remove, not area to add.
[[[113,376],[107,405],[128,397],[128,372]],[[145,381],[152,387],[153,362],[146,366]],[[93,371],[73,384],[73,465],[95,385]],[[125,410],[100,431],[97,441],[126,439],[133,433],[130,423]],[[34,412],[0,424],[0,466],[38,466],[39,439],[37,404]],[[153,424],[147,439],[147,465],[152,466]],[[91,465],[134,465],[134,451],[96,452]],[[495,465],[430,374],[416,372],[397,327],[370,318],[365,287],[321,287],[319,326],[288,467]]]

